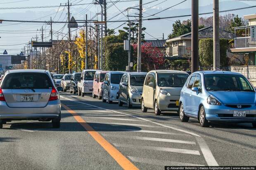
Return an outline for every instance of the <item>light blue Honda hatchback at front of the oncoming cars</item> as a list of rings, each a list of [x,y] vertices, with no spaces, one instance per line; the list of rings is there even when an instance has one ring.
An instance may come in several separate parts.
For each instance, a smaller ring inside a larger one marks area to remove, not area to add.
[[[203,127],[213,121],[252,123],[256,127],[256,91],[242,74],[225,71],[192,73],[183,86],[180,119],[199,120]]]

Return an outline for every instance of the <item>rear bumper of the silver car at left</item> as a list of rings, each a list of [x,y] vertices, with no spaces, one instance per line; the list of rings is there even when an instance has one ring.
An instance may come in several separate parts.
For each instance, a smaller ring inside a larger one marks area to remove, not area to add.
[[[8,107],[6,102],[0,102],[0,119],[36,119],[57,118],[61,112],[58,100],[48,102],[46,107]]]

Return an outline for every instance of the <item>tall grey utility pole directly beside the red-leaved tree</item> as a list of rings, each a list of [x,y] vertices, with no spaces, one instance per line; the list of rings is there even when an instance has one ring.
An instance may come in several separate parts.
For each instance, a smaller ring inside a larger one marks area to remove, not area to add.
[[[140,0],[140,12],[139,12],[137,72],[141,72],[141,35],[142,35],[142,0]]]

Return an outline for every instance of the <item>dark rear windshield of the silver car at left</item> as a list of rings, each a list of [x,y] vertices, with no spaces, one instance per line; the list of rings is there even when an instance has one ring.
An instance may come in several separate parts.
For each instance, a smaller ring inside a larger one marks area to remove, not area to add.
[[[2,82],[2,89],[48,89],[52,88],[50,77],[45,73],[10,73]]]

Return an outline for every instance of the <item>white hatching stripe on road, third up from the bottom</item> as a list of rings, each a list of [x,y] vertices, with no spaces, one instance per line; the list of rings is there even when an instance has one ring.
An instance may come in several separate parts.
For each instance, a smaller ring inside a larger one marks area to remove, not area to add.
[[[106,133],[102,133],[103,136],[110,137],[121,137],[125,139],[136,139],[136,140],[150,140],[150,141],[158,141],[158,142],[171,142],[171,143],[183,143],[183,144],[196,144],[196,142],[186,141],[186,140],[174,140],[174,139],[164,139],[157,137],[142,137],[142,136],[127,136],[127,135],[109,135]]]

